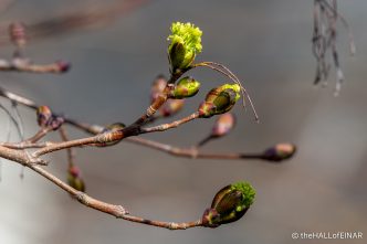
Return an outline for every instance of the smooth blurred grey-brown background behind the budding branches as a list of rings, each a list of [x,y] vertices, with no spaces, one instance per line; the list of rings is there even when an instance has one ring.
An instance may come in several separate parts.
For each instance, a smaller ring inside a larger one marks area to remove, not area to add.
[[[6,2],[6,1],[3,1]],[[260,115],[237,105],[235,130],[206,146],[207,151],[258,152],[290,141],[296,156],[284,163],[241,160],[191,160],[120,142],[104,149],[78,149],[87,193],[120,203],[132,213],[165,221],[201,216],[214,193],[228,183],[247,180],[256,189],[253,206],[240,221],[218,229],[167,231],[87,209],[65,192],[2,160],[0,243],[335,243],[292,240],[293,232],[363,232],[367,238],[367,1],[339,1],[349,21],[357,54],[349,56],[347,32],[338,25],[338,50],[346,76],[334,97],[332,70],[326,88],[312,85],[313,1],[139,1],[113,21],[93,29],[54,33],[30,40],[25,53],[36,63],[72,62],[64,75],[0,73],[1,86],[59,113],[93,124],[134,121],[149,104],[156,75],[168,75],[166,38],[172,21],[189,21],[203,31],[198,61],[228,65],[244,81]],[[64,13],[113,6],[116,1],[18,0],[1,11],[8,23],[36,23]],[[113,14],[112,14],[113,15]],[[1,57],[13,47],[2,44]],[[208,70],[190,73],[201,92],[187,100],[178,117],[195,110],[210,88],[226,82]],[[1,103],[9,103],[1,98]],[[20,107],[25,135],[36,130],[32,110]],[[177,118],[178,118],[177,117]],[[208,135],[214,118],[200,119],[167,132],[144,137],[189,147]],[[8,123],[1,114],[1,127]],[[11,140],[19,140],[12,128]],[[69,129],[72,138],[85,135]],[[1,134],[4,140],[6,132]],[[49,137],[49,139],[56,139]],[[49,169],[66,178],[65,152],[52,156]],[[338,243],[365,243],[342,240]]]

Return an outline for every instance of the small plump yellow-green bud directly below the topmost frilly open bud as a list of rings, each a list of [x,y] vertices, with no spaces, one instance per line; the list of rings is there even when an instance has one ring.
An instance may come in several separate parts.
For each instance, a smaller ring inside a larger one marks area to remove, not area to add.
[[[195,96],[200,88],[200,83],[190,76],[186,76],[178,81],[177,85],[169,94],[169,98],[181,99]]]

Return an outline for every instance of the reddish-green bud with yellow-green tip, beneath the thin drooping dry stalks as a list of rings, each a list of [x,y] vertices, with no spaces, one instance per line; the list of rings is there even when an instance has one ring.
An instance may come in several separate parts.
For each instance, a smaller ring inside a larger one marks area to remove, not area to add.
[[[211,89],[206,100],[199,106],[200,117],[209,118],[231,110],[235,102],[241,97],[240,91],[241,87],[238,84],[224,84]]]

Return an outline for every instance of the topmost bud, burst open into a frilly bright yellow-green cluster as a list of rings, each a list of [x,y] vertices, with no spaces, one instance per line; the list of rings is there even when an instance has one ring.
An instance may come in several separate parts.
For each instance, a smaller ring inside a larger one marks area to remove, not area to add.
[[[168,57],[171,65],[171,72],[189,67],[196,55],[201,52],[201,35],[199,28],[191,23],[172,23],[171,34],[168,36],[170,44],[168,46]]]

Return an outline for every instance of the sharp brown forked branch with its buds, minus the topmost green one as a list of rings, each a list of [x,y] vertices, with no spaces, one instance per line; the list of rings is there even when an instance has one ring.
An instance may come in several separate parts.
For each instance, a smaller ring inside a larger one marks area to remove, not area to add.
[[[190,28],[192,26],[190,25]],[[19,46],[21,46],[21,44],[19,44]],[[38,124],[40,126],[40,130],[36,131],[31,138],[22,139],[19,142],[1,142],[0,158],[6,158],[11,161],[18,162],[24,167],[28,167],[29,169],[35,171],[40,176],[44,177],[49,181],[53,182],[54,184],[70,193],[73,198],[75,198],[78,202],[86,206],[127,221],[149,224],[169,230],[185,230],[196,226],[217,227],[220,224],[237,221],[248,211],[253,201],[254,191],[250,184],[238,183],[223,188],[217,193],[211,204],[211,208],[206,210],[202,218],[197,221],[184,223],[146,220],[139,216],[132,215],[122,205],[103,202],[84,193],[84,181],[81,178],[80,171],[74,163],[73,150],[76,147],[108,147],[116,145],[122,140],[125,140],[128,142],[137,144],[139,146],[165,151],[167,153],[178,157],[207,159],[262,159],[271,162],[283,161],[294,155],[295,147],[290,144],[276,145],[275,147],[272,147],[261,153],[201,152],[199,150],[199,147],[213,138],[220,138],[227,135],[233,128],[234,120],[231,117],[232,115],[229,116],[229,114],[226,113],[234,106],[235,102],[240,97],[240,93],[248,96],[248,98],[250,97],[241,85],[240,79],[226,66],[213,62],[202,62],[198,64],[191,64],[192,62],[190,62],[187,66],[178,68],[177,66],[175,66],[175,62],[177,61],[177,59],[179,59],[177,57],[176,52],[178,51],[170,50],[170,78],[168,81],[166,81],[161,76],[158,78],[160,82],[160,86],[159,88],[154,87],[151,95],[153,100],[150,106],[145,113],[143,113],[139,118],[135,120],[135,123],[128,126],[125,126],[123,124],[113,124],[107,127],[102,127],[98,125],[78,123],[74,119],[66,118],[64,116],[60,116],[53,113],[46,106],[39,106],[31,99],[13,94],[0,87],[0,96],[9,99],[14,104],[20,104],[29,108],[35,109]],[[190,59],[192,59],[193,61],[193,57]],[[180,62],[185,63],[185,61],[182,60]],[[182,76],[186,72],[202,66],[219,72],[220,74],[230,78],[234,84],[224,84],[222,86],[211,89],[208,93],[205,102],[199,106],[198,110],[192,113],[190,116],[184,117],[172,123],[160,124],[158,126],[149,127],[149,124],[155,120],[155,118],[159,117],[156,116],[157,113],[160,113],[160,117],[169,117],[169,115],[175,114],[180,108],[180,106],[178,106],[177,104],[175,105],[175,102],[179,102],[179,99],[181,98],[196,95],[199,89],[200,83],[198,83],[191,77]],[[30,70],[24,71],[32,72]],[[155,83],[155,86],[158,83]],[[255,110],[254,115],[258,119]],[[179,127],[195,119],[208,118],[212,116],[219,116],[213,127],[213,130],[208,137],[209,139],[206,139],[205,142],[201,142],[197,147],[178,148],[171,145],[165,145],[137,137],[141,134],[165,131],[167,129]],[[69,136],[63,125],[74,126],[75,128],[81,129],[87,134],[92,134],[92,136],[81,139],[69,139]],[[59,131],[62,141],[42,140],[51,131]],[[67,152],[69,184],[53,176],[51,172],[41,168],[41,166],[49,165],[48,161],[42,159],[42,156],[59,150],[66,150]]]

